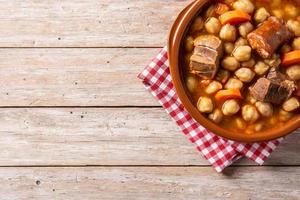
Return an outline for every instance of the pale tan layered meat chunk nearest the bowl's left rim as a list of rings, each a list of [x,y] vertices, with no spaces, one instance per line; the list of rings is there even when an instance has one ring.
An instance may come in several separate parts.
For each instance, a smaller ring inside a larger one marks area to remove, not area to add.
[[[198,37],[194,44],[196,47],[190,58],[190,71],[202,78],[213,79],[223,54],[222,41],[216,36],[204,35]]]

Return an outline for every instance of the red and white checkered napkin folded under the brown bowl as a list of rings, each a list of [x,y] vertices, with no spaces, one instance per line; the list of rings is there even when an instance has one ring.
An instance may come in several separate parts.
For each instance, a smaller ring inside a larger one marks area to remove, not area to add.
[[[138,78],[217,172],[244,156],[262,165],[282,141],[239,143],[216,136],[202,127],[186,111],[176,94],[169,71],[167,48],[162,49]]]

